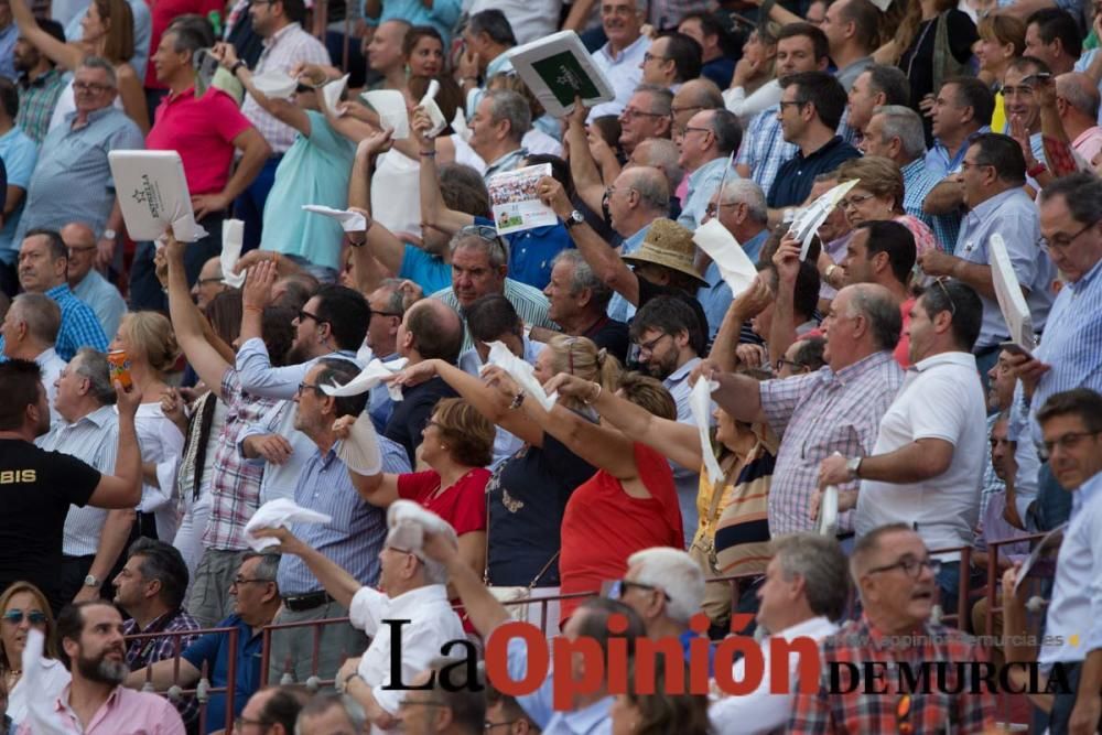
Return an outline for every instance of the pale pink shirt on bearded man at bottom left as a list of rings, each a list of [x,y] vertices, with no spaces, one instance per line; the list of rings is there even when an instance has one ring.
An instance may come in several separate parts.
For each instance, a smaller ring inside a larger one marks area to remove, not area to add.
[[[136,692],[116,687],[86,727],[69,707],[69,687],[50,707],[51,721],[42,723],[48,732],[83,733],[84,735],[184,735],[184,723],[169,700],[149,692]],[[33,717],[24,720],[19,735],[34,735]]]

